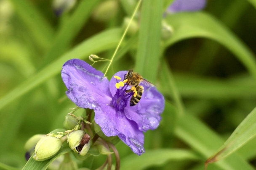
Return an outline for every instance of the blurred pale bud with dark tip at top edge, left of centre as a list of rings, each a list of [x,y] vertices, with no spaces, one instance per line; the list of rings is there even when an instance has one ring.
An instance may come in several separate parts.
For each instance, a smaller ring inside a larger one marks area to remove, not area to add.
[[[56,16],[72,9],[77,0],[53,0],[53,10]]]

